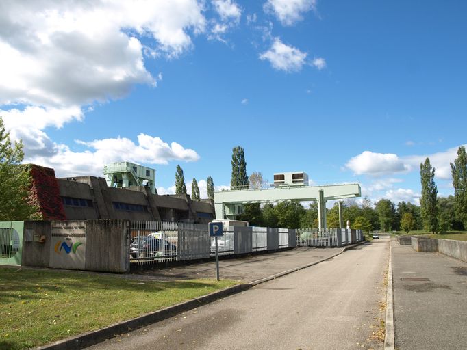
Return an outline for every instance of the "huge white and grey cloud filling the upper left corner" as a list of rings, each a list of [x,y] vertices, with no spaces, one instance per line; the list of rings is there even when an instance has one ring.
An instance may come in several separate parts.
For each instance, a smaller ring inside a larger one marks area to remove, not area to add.
[[[0,105],[84,105],[154,84],[143,45],[177,56],[204,30],[201,5],[166,1],[12,1],[0,5]]]

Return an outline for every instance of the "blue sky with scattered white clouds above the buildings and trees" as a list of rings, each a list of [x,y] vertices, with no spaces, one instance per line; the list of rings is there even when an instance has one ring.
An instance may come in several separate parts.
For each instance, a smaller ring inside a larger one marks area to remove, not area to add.
[[[0,115],[58,176],[175,167],[205,193],[247,170],[359,181],[418,203],[420,161],[453,193],[466,144],[465,1],[2,1]]]

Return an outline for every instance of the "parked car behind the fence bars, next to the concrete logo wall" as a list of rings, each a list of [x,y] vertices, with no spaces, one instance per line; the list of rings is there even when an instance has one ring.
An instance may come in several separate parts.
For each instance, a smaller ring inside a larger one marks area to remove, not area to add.
[[[167,258],[177,256],[177,246],[162,238],[143,236],[136,237],[130,245],[132,258]],[[139,254],[139,256],[138,256]]]

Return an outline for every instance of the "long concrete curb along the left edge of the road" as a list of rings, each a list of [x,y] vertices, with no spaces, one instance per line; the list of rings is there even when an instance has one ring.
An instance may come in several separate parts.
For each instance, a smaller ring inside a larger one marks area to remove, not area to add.
[[[155,312],[145,314],[143,316],[137,317],[136,319],[131,319],[128,321],[122,321],[119,323],[115,323],[105,328],[79,334],[78,336],[74,336],[72,338],[58,340],[57,342],[52,342],[51,344],[48,344],[48,345],[42,345],[41,347],[36,347],[34,349],[36,350],[75,350],[75,349],[83,349],[84,347],[90,347],[91,345],[97,344],[106,339],[114,338],[114,336],[118,336],[118,334],[130,332],[134,329],[138,329],[141,327],[145,327],[147,325],[151,325],[152,323],[159,322],[164,319],[168,319],[169,317],[173,317],[177,314],[181,314],[181,312],[186,312],[188,310],[192,310],[199,306],[209,304],[212,301],[223,299],[225,297],[228,297],[229,295],[234,295],[242,291],[247,291],[248,289],[253,288],[253,286],[257,286],[258,284],[268,282],[270,280],[274,280],[275,278],[279,278],[283,275],[288,275],[292,272],[296,272],[301,269],[305,269],[307,267],[319,264],[320,262],[334,258],[335,256],[342,254],[346,250],[351,250],[354,247],[357,247],[357,245],[361,245],[363,243],[366,243],[366,242],[363,241],[359,243],[354,243],[352,245],[344,247],[340,252],[336,254],[328,256],[327,258],[324,258],[322,260],[311,262],[310,264],[303,265],[301,267],[295,267],[294,269],[283,271],[281,273],[276,273],[275,275],[270,275],[266,278],[255,280],[248,284],[237,284],[236,286],[225,288],[222,291],[217,291],[217,292],[214,292],[208,295],[203,295],[202,297],[192,299],[189,301],[185,301],[184,303],[169,306],[168,308],[164,308],[162,310],[157,310]]]

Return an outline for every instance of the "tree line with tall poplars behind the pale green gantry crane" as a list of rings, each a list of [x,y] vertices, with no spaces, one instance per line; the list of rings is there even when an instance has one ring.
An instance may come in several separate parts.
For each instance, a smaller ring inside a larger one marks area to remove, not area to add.
[[[232,150],[231,165],[231,189],[264,186],[260,172],[248,176],[242,147],[237,146]],[[451,163],[451,174],[454,196],[438,197],[434,182],[435,169],[427,158],[425,163],[420,164],[420,206],[404,201],[394,204],[388,199],[381,199],[374,204],[369,198],[364,198],[361,204],[355,200],[346,200],[342,206],[344,222],[349,220],[351,228],[366,232],[427,230],[443,233],[447,230],[464,230],[467,228],[467,157],[464,146],[457,150],[457,158]],[[237,219],[249,221],[251,226],[315,228],[318,227],[318,203],[312,201],[306,207],[300,202],[244,204],[243,212]],[[327,226],[339,227],[338,203],[327,208]]]

